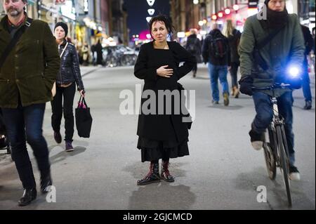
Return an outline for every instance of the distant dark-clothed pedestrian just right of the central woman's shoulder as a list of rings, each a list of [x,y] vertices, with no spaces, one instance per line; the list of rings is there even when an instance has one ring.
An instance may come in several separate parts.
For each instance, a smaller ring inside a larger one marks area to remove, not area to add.
[[[197,29],[190,29],[190,36],[187,37],[187,44],[185,49],[195,56],[197,62],[193,66],[192,72],[193,77],[197,76],[197,63],[201,62],[201,51],[202,45],[201,41],[197,38]]]

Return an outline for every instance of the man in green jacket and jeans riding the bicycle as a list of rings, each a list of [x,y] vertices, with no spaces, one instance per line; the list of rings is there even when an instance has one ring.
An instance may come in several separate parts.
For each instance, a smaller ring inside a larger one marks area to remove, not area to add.
[[[266,15],[266,16],[265,16]],[[279,32],[270,39],[268,44],[260,49],[263,61],[268,65],[264,68],[262,63],[252,56],[254,46],[261,43],[265,37],[275,30]],[[270,91],[252,91],[252,86],[265,87],[274,83],[290,83],[294,88],[299,88],[299,79],[289,79],[289,67],[301,68],[304,58],[304,41],[301,25],[297,15],[288,14],[284,0],[265,0],[263,11],[258,15],[247,18],[244,32],[239,44],[240,70],[242,78],[239,80],[240,91],[252,95],[256,107],[256,117],[251,124],[251,144],[256,150],[263,147],[265,130],[272,121]],[[260,65],[258,65],[260,64]],[[285,133],[289,147],[290,178],[299,180],[299,172],[294,166],[294,133],[293,123],[293,96],[291,89],[275,90],[279,113],[285,121]]]

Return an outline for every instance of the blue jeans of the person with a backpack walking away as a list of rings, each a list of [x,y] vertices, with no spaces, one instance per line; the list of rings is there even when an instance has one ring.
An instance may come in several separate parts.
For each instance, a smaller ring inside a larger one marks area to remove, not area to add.
[[[227,73],[228,66],[227,65],[212,65],[210,62],[208,63],[209,67],[209,77],[211,79],[211,92],[214,101],[219,101],[219,91],[218,91],[218,78],[220,79],[220,84],[223,88],[223,94],[229,94],[228,81],[227,81]]]

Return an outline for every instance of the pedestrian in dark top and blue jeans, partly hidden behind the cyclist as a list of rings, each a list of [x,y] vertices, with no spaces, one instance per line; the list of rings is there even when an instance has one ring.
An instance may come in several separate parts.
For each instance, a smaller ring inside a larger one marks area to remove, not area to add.
[[[314,40],[312,39],[312,34],[310,34],[310,29],[308,27],[305,27],[304,25],[301,25],[303,37],[304,37],[304,43],[305,43],[305,58],[303,62],[303,82],[302,82],[302,88],[303,88],[303,95],[305,98],[305,106],[303,107],[304,110],[310,110],[312,109],[312,92],[310,91],[310,75],[308,74],[308,55],[310,55],[310,52],[312,51],[312,48],[314,47]]]

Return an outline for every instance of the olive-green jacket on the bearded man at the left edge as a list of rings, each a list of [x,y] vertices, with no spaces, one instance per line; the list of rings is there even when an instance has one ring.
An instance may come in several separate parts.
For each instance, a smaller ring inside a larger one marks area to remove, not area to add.
[[[0,22],[0,56],[11,41],[8,17]],[[23,24],[24,25],[24,24]],[[60,67],[55,38],[46,22],[33,20],[0,70],[0,107],[18,107],[53,100],[51,89]]]

